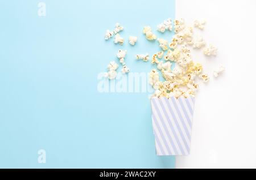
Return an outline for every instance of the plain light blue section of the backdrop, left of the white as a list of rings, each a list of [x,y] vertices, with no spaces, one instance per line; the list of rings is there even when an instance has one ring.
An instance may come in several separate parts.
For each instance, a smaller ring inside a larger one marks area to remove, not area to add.
[[[149,72],[134,55],[160,49],[142,29],[170,40],[155,30],[174,19],[175,1],[48,0],[45,17],[39,2],[0,2],[0,168],[174,168],[155,155],[148,93],[100,93],[97,76],[118,49],[132,72]],[[116,22],[123,46],[104,40]]]

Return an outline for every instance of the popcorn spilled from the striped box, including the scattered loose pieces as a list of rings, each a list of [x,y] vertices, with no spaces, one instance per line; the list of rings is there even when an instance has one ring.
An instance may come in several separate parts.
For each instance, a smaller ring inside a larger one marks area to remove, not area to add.
[[[163,38],[157,38],[152,32],[151,27],[146,26],[143,28],[143,34],[149,41],[157,40],[161,49],[159,52],[152,54],[137,54],[135,58],[147,62],[151,57],[152,66],[156,66],[150,71],[148,82],[155,89],[152,97],[195,97],[197,90],[199,89],[198,80],[203,83],[209,82],[210,78],[207,73],[204,72],[203,66],[200,63],[193,61],[191,49],[203,49],[203,53],[207,56],[217,55],[217,48],[213,44],[205,42],[204,38],[200,35],[194,35],[193,28],[199,28],[203,30],[205,28],[205,20],[195,20],[192,26],[185,25],[184,19],[176,19],[172,23],[169,18],[164,20],[163,23],[158,24],[157,31],[164,33],[165,31],[174,30],[175,35],[171,38],[171,41]],[[118,23],[115,25],[114,31],[107,30],[105,33],[105,39],[114,36],[115,44],[122,45],[124,43],[123,38],[119,35],[119,32],[123,31]],[[136,36],[129,36],[129,44],[135,45],[138,40]],[[128,73],[130,69],[126,66],[125,57],[127,50],[119,50],[117,57],[122,65],[121,72]],[[109,79],[114,79],[117,76],[118,65],[115,62],[110,62],[108,66],[108,72],[105,76]],[[225,71],[225,67],[220,65],[213,70],[213,76],[216,78]],[[163,80],[160,80],[162,75]]]

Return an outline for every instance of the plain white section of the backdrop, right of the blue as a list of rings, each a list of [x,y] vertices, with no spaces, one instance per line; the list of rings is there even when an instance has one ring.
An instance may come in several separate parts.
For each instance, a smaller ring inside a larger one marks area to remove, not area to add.
[[[177,0],[176,18],[189,24],[206,19],[196,31],[218,47],[216,58],[193,54],[212,76],[200,86],[193,118],[191,155],[176,158],[176,168],[256,168],[256,1]]]

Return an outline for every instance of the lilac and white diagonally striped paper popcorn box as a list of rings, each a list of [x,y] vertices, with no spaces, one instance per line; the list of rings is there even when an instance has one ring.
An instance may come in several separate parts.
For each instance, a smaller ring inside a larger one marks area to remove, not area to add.
[[[195,98],[151,98],[156,155],[189,155]]]

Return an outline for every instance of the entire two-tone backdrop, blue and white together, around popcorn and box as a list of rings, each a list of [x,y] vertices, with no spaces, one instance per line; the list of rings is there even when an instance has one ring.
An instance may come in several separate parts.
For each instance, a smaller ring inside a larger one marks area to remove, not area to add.
[[[1,1],[0,168],[255,168],[255,7],[253,0]],[[150,71],[134,55],[159,47],[142,29],[171,40],[173,33],[156,32],[167,18],[207,19],[196,33],[219,52],[195,52],[195,61],[209,74],[226,66],[200,87],[187,157],[155,155],[150,88],[99,91],[99,74],[119,49],[131,72]],[[117,22],[123,46],[104,40]],[[139,37],[134,47],[130,35]]]

